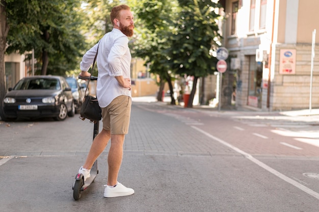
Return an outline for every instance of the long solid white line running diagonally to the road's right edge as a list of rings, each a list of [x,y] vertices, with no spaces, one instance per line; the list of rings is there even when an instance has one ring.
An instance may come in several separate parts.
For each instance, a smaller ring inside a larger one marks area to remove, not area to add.
[[[257,164],[257,165],[260,166],[261,168],[263,168],[263,169],[269,171],[270,173],[274,174],[275,176],[277,176],[277,177],[281,178],[282,180],[284,180],[284,181],[290,183],[291,185],[297,187],[298,189],[302,190],[303,192],[305,192],[305,193],[307,193],[307,194],[313,196],[313,197],[316,198],[316,199],[319,199],[319,194],[316,193],[315,191],[309,189],[308,187],[305,187],[303,184],[301,184],[301,183],[299,183],[299,182],[297,182],[297,181],[295,181],[295,180],[293,180],[293,179],[287,177],[286,175],[284,175],[284,174],[278,172],[277,170],[271,168],[270,166],[265,165],[265,164],[262,163],[261,161],[259,161],[259,160],[257,160],[256,158],[254,158],[252,155],[250,155],[250,154],[244,152],[244,151],[241,150],[241,149],[238,149],[237,147],[235,147],[235,146],[233,146],[233,145],[231,145],[231,144],[229,144],[229,143],[227,143],[227,142],[225,142],[225,141],[223,141],[223,140],[221,140],[221,139],[219,139],[219,138],[217,138],[217,137],[215,137],[215,136],[210,135],[209,133],[206,133],[206,131],[199,129],[199,128],[197,128],[196,126],[192,126],[192,127],[193,127],[194,129],[198,130],[200,133],[202,133],[202,134],[208,136],[209,138],[214,139],[214,140],[218,141],[219,143],[221,143],[221,144],[223,144],[223,145],[225,145],[225,146],[227,146],[227,147],[233,149],[234,151],[236,151],[236,152],[238,152],[238,153],[244,155],[244,156],[245,156],[248,160],[250,160],[251,162]]]

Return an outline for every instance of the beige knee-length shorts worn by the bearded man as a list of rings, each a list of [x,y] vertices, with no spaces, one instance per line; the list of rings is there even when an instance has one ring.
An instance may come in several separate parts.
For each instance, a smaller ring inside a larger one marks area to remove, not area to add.
[[[113,135],[128,133],[132,100],[129,96],[121,95],[105,108],[102,108],[103,129],[111,131]]]

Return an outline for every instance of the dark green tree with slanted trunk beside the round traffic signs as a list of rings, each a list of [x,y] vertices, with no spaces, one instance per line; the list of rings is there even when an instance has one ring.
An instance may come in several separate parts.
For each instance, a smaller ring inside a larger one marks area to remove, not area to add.
[[[209,54],[217,48],[220,39],[215,8],[221,7],[211,0],[178,0],[181,12],[176,21],[176,31],[171,37],[172,44],[167,54],[169,63],[176,73],[194,77],[188,108],[193,107],[199,77],[214,73],[217,59]]]

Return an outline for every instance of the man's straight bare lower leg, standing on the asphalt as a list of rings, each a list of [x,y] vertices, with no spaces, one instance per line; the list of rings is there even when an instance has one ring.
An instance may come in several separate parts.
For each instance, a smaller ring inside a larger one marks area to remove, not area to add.
[[[111,147],[108,156],[109,176],[108,186],[115,186],[123,158],[123,143],[125,135],[111,135]]]

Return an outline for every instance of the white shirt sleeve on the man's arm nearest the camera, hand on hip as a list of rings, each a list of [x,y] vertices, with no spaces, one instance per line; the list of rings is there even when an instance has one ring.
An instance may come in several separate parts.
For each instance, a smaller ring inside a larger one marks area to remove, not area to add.
[[[110,76],[122,76],[122,57],[124,56],[128,45],[128,38],[122,36],[114,42],[108,57]]]

